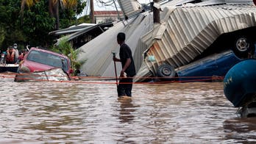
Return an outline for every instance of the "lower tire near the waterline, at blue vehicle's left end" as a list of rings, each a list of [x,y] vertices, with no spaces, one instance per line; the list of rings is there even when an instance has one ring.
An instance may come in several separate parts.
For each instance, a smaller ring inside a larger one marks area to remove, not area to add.
[[[160,79],[160,80],[171,80],[175,76],[175,70],[174,67],[171,65],[160,65],[157,68],[157,76],[165,78],[165,79]]]

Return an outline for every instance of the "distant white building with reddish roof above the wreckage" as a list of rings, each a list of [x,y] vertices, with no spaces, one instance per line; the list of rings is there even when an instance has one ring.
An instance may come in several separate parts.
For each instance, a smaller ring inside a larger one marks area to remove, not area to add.
[[[120,15],[120,17],[124,17],[123,16],[123,12],[121,11],[94,11],[94,18],[96,21],[96,24],[102,24],[102,23],[107,23],[107,22],[113,22],[113,21],[117,21],[118,20],[118,13]]]

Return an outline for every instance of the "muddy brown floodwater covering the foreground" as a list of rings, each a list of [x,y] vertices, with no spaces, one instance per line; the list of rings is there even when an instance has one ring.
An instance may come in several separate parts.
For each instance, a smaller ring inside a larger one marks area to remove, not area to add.
[[[0,78],[0,143],[255,143],[256,119],[239,118],[221,82],[16,83]]]

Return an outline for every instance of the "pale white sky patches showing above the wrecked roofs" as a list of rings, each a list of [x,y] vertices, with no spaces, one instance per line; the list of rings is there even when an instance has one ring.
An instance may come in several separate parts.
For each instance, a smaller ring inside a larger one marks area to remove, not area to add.
[[[96,11],[97,10],[115,10],[115,5],[112,5],[112,6],[102,6],[102,4],[100,4],[96,0],[93,0],[93,1],[94,1],[94,10],[96,10]],[[102,1],[110,1],[110,0],[102,0]],[[149,4],[152,1],[153,0],[138,0],[138,2],[140,2],[141,4]],[[119,7],[117,1],[115,2],[115,4],[117,4],[117,7]],[[82,12],[81,16],[82,15],[88,15],[89,12],[90,12],[90,8],[86,7],[84,12]]]

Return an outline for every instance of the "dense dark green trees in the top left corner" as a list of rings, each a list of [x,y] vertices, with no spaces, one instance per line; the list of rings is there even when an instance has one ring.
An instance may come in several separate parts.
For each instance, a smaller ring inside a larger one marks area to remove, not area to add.
[[[56,30],[56,18],[51,17],[49,1],[0,0],[0,48],[18,43],[18,48],[30,46],[51,47],[54,37],[49,32]],[[85,7],[83,0],[77,0],[77,8],[60,9],[62,28],[76,24],[76,15]]]

